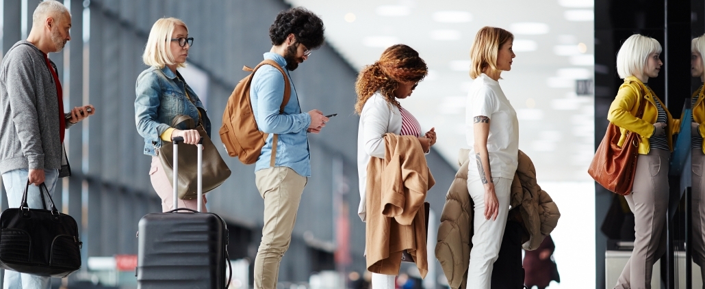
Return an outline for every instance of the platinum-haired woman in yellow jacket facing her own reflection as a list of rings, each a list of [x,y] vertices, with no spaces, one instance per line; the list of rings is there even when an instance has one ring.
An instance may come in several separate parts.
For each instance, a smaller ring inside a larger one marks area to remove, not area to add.
[[[649,78],[661,70],[661,44],[651,37],[634,34],[617,54],[617,72],[624,84],[612,102],[607,119],[620,127],[623,145],[627,131],[639,134],[639,157],[632,193],[625,195],[635,216],[632,257],[625,265],[615,288],[649,289],[654,262],[666,251],[666,210],[668,208],[668,163],[673,150],[673,134],[680,120],[673,120],[661,99],[649,88]],[[638,118],[642,102],[644,115]]]

